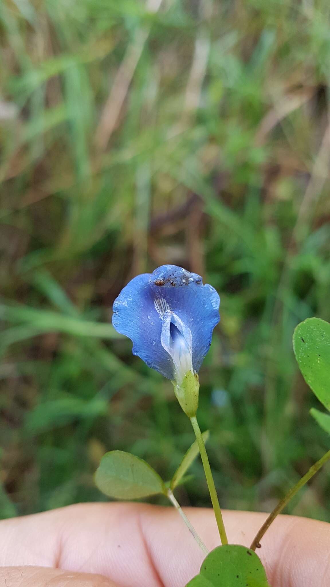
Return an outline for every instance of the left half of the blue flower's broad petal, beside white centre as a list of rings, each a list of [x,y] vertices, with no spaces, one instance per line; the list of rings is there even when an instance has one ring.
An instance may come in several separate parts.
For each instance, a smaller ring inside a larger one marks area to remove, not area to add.
[[[134,277],[122,289],[113,303],[112,323],[120,334],[133,342],[133,355],[137,355],[151,369],[173,379],[174,364],[161,346],[161,318],[154,306],[149,285],[150,273]]]

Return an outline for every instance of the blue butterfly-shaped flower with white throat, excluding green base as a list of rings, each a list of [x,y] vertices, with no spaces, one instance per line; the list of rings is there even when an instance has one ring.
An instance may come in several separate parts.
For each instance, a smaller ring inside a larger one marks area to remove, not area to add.
[[[196,376],[210,348],[219,304],[200,275],[162,265],[124,287],[113,304],[112,323],[132,340],[134,355],[179,389],[187,373]]]

